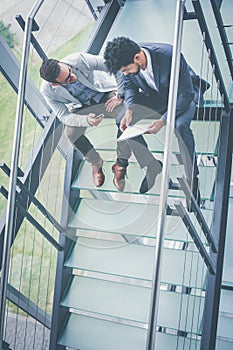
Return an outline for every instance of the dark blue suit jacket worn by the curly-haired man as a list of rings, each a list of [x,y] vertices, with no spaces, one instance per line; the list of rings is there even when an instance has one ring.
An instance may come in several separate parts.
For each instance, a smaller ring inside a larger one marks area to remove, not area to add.
[[[172,46],[169,44],[158,43],[140,43],[140,47],[145,48],[151,55],[152,69],[155,77],[155,84],[158,89],[159,100],[158,110],[168,103],[170,72],[172,63]],[[139,91],[146,96],[150,95],[151,88],[147,85],[140,75],[124,76],[125,103],[127,108],[136,103],[136,97]],[[201,79],[187,64],[183,55],[180,57],[180,73],[177,94],[176,116],[183,113],[190,103],[194,100],[198,102],[199,90],[201,90],[200,104],[203,103],[203,93],[209,88],[209,83]],[[162,117],[166,120],[167,113]]]

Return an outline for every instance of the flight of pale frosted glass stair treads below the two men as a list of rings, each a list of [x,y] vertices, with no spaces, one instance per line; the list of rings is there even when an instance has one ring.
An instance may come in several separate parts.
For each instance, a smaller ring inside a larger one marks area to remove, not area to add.
[[[201,138],[200,133],[206,132],[205,123],[200,122],[200,128],[198,121],[193,123]],[[214,126],[215,135],[211,147],[207,139],[199,145],[202,157],[204,153],[211,157],[216,152],[219,122],[206,122],[206,127],[209,123]],[[108,135],[114,140],[111,135],[115,129],[113,121],[105,120],[102,127],[91,129],[89,136],[93,133],[95,140],[104,140],[103,136]],[[93,187],[90,166],[86,163],[79,167],[71,184],[71,191],[79,193],[79,198],[68,222],[75,236],[64,262],[71,276],[60,300],[60,307],[67,308],[68,313],[58,343],[72,349],[145,348],[160,179],[148,195],[138,194],[144,175],[132,160],[125,193],[117,192],[111,174],[112,142],[99,144],[106,160],[103,187],[98,190]],[[161,149],[157,148],[160,142],[152,137],[150,146],[162,159]],[[177,150],[175,145],[174,150]],[[177,182],[182,165],[173,163],[172,168],[172,181]],[[204,203],[211,199],[216,167],[202,164],[199,168],[203,170],[200,180]],[[185,199],[182,190],[171,189],[169,204],[173,210],[168,210],[165,233],[156,349],[169,346],[172,349],[176,343],[180,349],[200,346],[207,268],[174,209],[177,199]],[[210,224],[212,210],[202,211]],[[191,219],[197,226],[194,214]],[[203,233],[201,237],[207,246]]]

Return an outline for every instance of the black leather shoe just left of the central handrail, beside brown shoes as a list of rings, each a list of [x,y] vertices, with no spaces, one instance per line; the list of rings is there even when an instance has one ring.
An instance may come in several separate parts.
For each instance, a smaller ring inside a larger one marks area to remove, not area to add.
[[[144,194],[154,186],[156,176],[161,173],[162,168],[163,163],[157,159],[147,166],[146,176],[144,177],[139,190],[140,193]]]

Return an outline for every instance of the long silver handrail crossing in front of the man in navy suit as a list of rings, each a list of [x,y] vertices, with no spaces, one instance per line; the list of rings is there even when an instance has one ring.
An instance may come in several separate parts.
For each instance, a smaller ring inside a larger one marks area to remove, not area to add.
[[[153,275],[153,282],[152,282],[151,305],[150,305],[146,350],[155,349],[156,324],[157,324],[157,315],[158,315],[158,301],[159,301],[159,293],[160,293],[161,264],[162,264],[163,241],[164,241],[164,227],[165,227],[165,221],[166,221],[167,196],[168,196],[168,188],[169,188],[169,175],[170,175],[170,163],[171,163],[170,150],[172,148],[172,139],[173,139],[173,133],[174,133],[175,117],[176,117],[176,101],[177,101],[178,81],[179,81],[184,4],[185,4],[185,0],[184,1],[177,0],[175,30],[174,30],[174,40],[173,40],[173,53],[172,53],[172,66],[171,66],[171,79],[170,79],[169,98],[168,98],[168,117],[167,117],[166,135],[165,135],[165,144],[164,144],[164,162],[163,162],[163,172],[162,172],[162,181],[161,181],[161,190],[160,190],[158,230],[157,230],[157,239],[156,239],[154,275]]]

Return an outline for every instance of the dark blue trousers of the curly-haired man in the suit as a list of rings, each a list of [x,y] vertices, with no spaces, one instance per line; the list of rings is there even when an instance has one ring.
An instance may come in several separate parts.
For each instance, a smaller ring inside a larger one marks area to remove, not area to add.
[[[139,94],[137,103],[132,106],[133,120],[132,125],[140,119],[159,119],[166,111],[167,106],[165,101],[159,99],[157,94],[147,97]],[[180,155],[184,164],[187,179],[191,181],[193,177],[199,174],[197,167],[197,160],[195,154],[195,142],[190,123],[195,113],[196,104],[193,101],[187,109],[180,114],[175,121],[175,135],[178,139],[180,148]],[[118,137],[122,134],[119,129],[120,121],[123,118],[125,110],[122,110],[117,116]],[[135,158],[141,168],[148,166],[153,160],[154,156],[149,151],[148,145],[143,136],[137,136],[128,141],[118,143],[117,148],[117,163],[121,166],[128,165],[128,159],[134,153]]]

